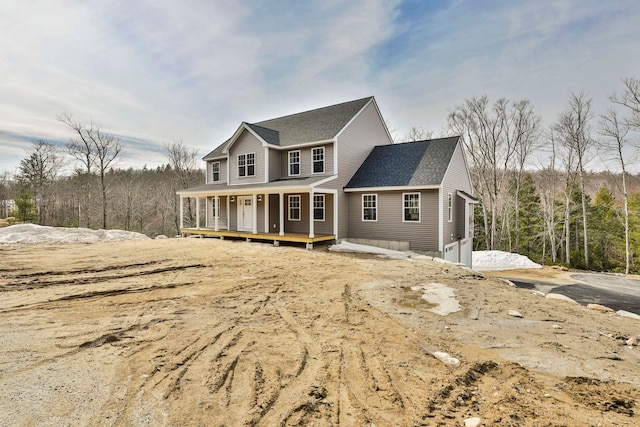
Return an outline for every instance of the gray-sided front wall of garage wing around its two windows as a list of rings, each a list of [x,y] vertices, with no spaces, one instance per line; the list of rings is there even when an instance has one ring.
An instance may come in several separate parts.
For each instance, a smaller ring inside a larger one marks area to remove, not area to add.
[[[362,221],[362,195],[378,195],[377,221]],[[438,250],[438,190],[420,192],[420,222],[403,222],[403,192],[348,193],[349,239],[409,242],[411,249]]]

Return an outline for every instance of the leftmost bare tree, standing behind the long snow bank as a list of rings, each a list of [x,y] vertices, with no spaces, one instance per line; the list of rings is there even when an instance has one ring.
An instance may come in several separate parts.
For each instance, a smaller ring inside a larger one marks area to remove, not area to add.
[[[33,191],[40,224],[44,224],[47,217],[47,188],[56,179],[62,166],[57,151],[53,144],[46,141],[33,141],[31,149],[27,151],[28,156],[20,161],[18,180]]]

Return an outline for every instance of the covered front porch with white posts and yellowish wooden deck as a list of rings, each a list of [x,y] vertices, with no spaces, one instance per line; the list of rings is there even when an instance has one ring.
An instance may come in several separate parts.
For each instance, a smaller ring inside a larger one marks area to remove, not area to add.
[[[238,188],[180,193],[180,232],[212,237],[313,243],[335,240],[333,190]]]

